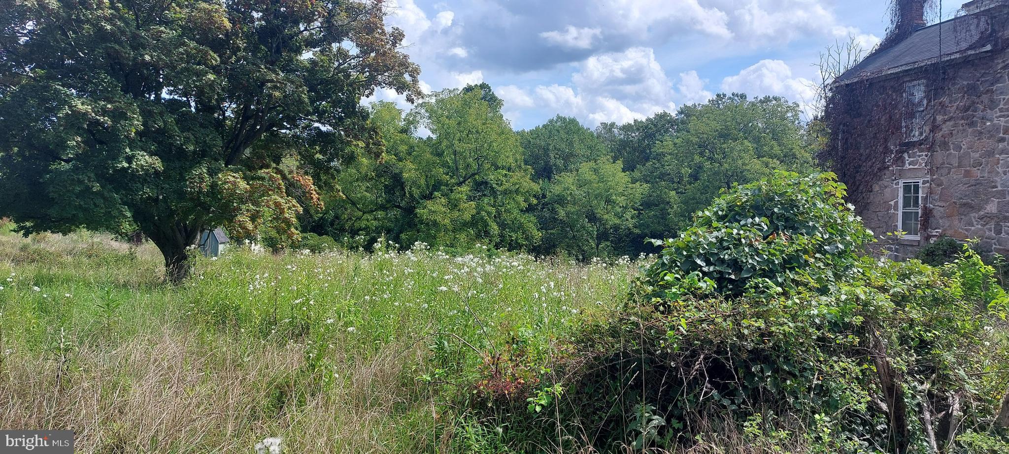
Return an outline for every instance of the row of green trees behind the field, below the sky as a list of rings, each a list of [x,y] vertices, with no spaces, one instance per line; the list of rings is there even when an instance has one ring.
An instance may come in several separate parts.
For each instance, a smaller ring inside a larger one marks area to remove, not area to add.
[[[383,151],[345,163],[337,184],[320,188],[324,208],[303,203],[302,230],[351,248],[634,256],[724,189],[775,170],[812,171],[819,143],[798,105],[776,97],[721,94],[594,131],[557,116],[516,132],[502,104],[486,84],[433,94],[409,112],[372,104]],[[263,236],[274,248],[283,238]]]

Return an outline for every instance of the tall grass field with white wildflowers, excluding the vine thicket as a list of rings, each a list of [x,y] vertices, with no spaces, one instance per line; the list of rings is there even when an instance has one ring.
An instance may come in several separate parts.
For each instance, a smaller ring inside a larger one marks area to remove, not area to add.
[[[637,269],[236,250],[174,288],[161,267],[149,246],[4,229],[0,426],[74,429],[84,453],[466,452],[478,425],[452,402],[480,394],[488,353],[537,355],[513,353],[522,381]]]

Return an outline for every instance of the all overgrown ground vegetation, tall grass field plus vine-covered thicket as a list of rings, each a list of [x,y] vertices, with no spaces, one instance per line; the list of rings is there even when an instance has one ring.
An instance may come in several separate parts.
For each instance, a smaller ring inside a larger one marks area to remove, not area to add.
[[[867,256],[844,195],[740,186],[646,267],[239,249],[173,286],[148,247],[4,233],[0,418],[87,453],[1009,452],[996,267]]]

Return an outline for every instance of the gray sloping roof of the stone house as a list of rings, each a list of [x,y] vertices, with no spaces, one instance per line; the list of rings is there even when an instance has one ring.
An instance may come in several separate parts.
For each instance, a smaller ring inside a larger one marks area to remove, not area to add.
[[[983,48],[990,41],[991,29],[988,16],[981,14],[960,16],[923,27],[903,41],[873,52],[834,83],[872,79],[904,66],[934,61],[939,57],[940,42],[943,58]]]

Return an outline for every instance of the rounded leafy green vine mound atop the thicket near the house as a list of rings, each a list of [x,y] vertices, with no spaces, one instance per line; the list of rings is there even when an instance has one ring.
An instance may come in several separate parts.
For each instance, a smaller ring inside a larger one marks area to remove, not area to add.
[[[662,243],[643,292],[666,301],[780,287],[831,291],[851,279],[856,253],[873,239],[844,195],[829,173],[779,173],[740,186]]]

